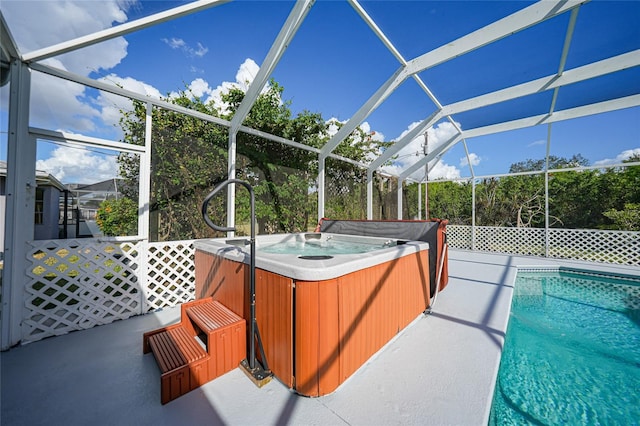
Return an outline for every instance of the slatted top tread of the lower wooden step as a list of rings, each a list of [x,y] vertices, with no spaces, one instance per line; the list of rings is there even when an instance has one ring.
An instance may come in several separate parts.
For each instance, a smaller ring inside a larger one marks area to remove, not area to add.
[[[163,374],[208,356],[184,327],[150,336],[149,345]]]

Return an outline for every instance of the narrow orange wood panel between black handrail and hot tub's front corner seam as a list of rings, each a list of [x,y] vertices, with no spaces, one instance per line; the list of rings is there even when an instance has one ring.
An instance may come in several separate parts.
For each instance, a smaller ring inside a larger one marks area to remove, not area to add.
[[[256,269],[256,319],[267,364],[289,388],[294,380],[292,293],[291,278]]]

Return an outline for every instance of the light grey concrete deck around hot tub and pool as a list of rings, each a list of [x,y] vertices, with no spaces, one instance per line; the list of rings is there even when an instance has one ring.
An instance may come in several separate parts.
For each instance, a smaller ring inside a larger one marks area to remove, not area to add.
[[[483,425],[518,267],[565,266],[627,275],[638,267],[451,250],[449,285],[330,395],[299,396],[278,380],[256,387],[240,370],[160,404],[160,374],[142,333],[178,308],[2,352],[2,425]]]

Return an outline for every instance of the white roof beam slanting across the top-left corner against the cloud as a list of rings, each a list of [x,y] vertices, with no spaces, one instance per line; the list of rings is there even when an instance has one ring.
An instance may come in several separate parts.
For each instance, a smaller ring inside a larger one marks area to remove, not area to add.
[[[191,3],[187,3],[183,6],[178,6],[164,12],[156,13],[145,18],[136,19],[135,21],[125,22],[124,24],[117,25],[115,27],[106,28],[102,31],[77,37],[73,40],[64,41],[62,43],[54,44],[53,46],[45,47],[42,49],[27,52],[22,56],[22,60],[25,62],[35,62],[42,59],[58,56],[63,53],[78,50],[86,46],[91,46],[112,38],[120,37],[132,32],[147,28],[162,22],[170,21],[181,16],[190,15],[195,12],[199,12],[204,9],[208,9],[213,6],[219,6],[227,3],[230,0],[198,0]]]

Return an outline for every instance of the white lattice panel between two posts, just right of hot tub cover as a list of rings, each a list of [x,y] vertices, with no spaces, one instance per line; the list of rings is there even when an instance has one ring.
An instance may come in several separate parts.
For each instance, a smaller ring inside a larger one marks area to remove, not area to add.
[[[499,253],[544,256],[544,229],[477,226],[474,249]]]

